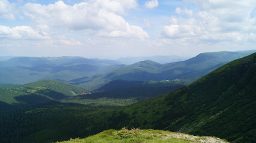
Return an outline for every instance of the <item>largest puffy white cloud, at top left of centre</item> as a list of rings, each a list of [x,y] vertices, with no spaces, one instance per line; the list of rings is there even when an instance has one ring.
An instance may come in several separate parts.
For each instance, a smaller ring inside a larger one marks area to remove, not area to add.
[[[132,26],[121,15],[137,7],[135,0],[89,0],[73,6],[63,1],[55,4],[26,4],[24,14],[38,24],[55,28],[85,30],[98,36],[147,38],[141,27]]]

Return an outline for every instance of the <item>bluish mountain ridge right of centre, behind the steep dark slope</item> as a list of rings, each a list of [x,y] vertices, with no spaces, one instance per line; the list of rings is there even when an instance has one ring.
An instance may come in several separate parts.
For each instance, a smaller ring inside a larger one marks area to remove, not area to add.
[[[173,80],[173,79],[191,79],[201,77],[210,71],[228,63],[237,58],[245,57],[255,51],[237,51],[237,52],[206,52],[197,55],[189,60],[179,61],[168,64],[159,64],[154,61],[140,61],[129,66],[121,67],[108,74],[89,77],[87,79],[70,82],[84,88],[94,89],[104,82],[111,80]]]

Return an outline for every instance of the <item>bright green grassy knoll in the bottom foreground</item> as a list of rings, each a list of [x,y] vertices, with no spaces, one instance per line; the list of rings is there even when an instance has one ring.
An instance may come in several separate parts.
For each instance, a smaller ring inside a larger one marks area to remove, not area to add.
[[[95,143],[137,143],[137,142],[149,142],[149,143],[225,143],[222,139],[213,138],[210,136],[192,136],[183,133],[173,133],[163,130],[140,130],[140,129],[125,129],[122,130],[106,130],[98,133],[97,135],[89,136],[84,139],[70,139],[70,141],[64,141],[61,143],[75,143],[75,142],[95,142]]]

